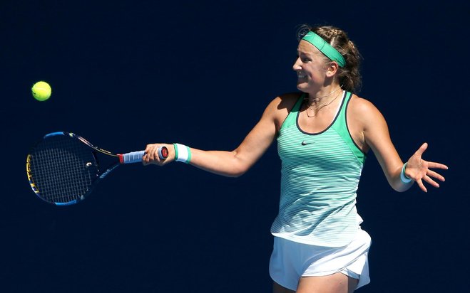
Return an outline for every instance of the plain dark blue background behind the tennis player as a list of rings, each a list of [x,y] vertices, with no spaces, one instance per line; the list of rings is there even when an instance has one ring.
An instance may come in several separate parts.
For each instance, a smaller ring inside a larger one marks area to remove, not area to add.
[[[332,24],[364,56],[360,95],[402,159],[449,165],[428,193],[392,191],[373,154],[358,192],[372,236],[359,292],[469,287],[468,1],[24,1],[0,4],[1,292],[270,292],[273,145],[238,179],[184,164],[124,166],[87,201],[48,206],[29,147],[70,131],[116,152],[150,142],[234,149],[295,91],[296,27]],[[46,80],[53,95],[31,97]]]

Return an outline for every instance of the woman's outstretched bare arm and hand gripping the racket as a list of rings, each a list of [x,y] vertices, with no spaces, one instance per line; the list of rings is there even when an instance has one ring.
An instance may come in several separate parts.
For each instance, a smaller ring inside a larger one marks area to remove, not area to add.
[[[273,100],[265,109],[259,122],[247,137],[233,151],[203,151],[191,148],[190,164],[205,171],[222,176],[236,177],[245,174],[260,159],[276,136],[276,117],[280,110],[280,98]],[[158,158],[158,147],[168,148],[168,159]],[[145,149],[143,164],[168,164],[175,159],[175,150],[171,144],[148,144]]]

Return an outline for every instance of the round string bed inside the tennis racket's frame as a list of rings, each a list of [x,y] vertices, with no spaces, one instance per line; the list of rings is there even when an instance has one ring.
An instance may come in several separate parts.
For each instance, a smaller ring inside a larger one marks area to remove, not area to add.
[[[31,152],[30,172],[38,196],[53,203],[70,203],[91,188],[98,165],[88,146],[59,135],[44,139]]]

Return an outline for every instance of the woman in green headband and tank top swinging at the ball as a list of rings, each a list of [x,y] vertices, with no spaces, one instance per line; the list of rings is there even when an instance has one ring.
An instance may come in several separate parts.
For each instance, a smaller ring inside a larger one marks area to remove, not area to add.
[[[369,282],[369,235],[359,224],[356,191],[369,149],[396,191],[444,177],[424,161],[423,144],[404,164],[387,123],[357,91],[360,55],[347,34],[322,26],[300,30],[293,65],[300,92],[276,97],[233,151],[203,151],[182,144],[148,144],[143,164],[183,161],[223,176],[244,174],[277,139],[282,161],[280,211],[272,224],[273,292],[353,292]],[[166,146],[167,159],[158,149]]]

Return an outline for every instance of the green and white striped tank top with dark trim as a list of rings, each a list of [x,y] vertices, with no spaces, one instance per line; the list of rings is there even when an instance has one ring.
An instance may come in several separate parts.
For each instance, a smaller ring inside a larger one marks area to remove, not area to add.
[[[287,115],[277,137],[281,192],[271,233],[297,243],[344,246],[362,222],[356,210],[356,191],[366,159],[347,129],[346,110],[352,93],[343,93],[332,124],[315,134],[298,125],[304,96]]]

